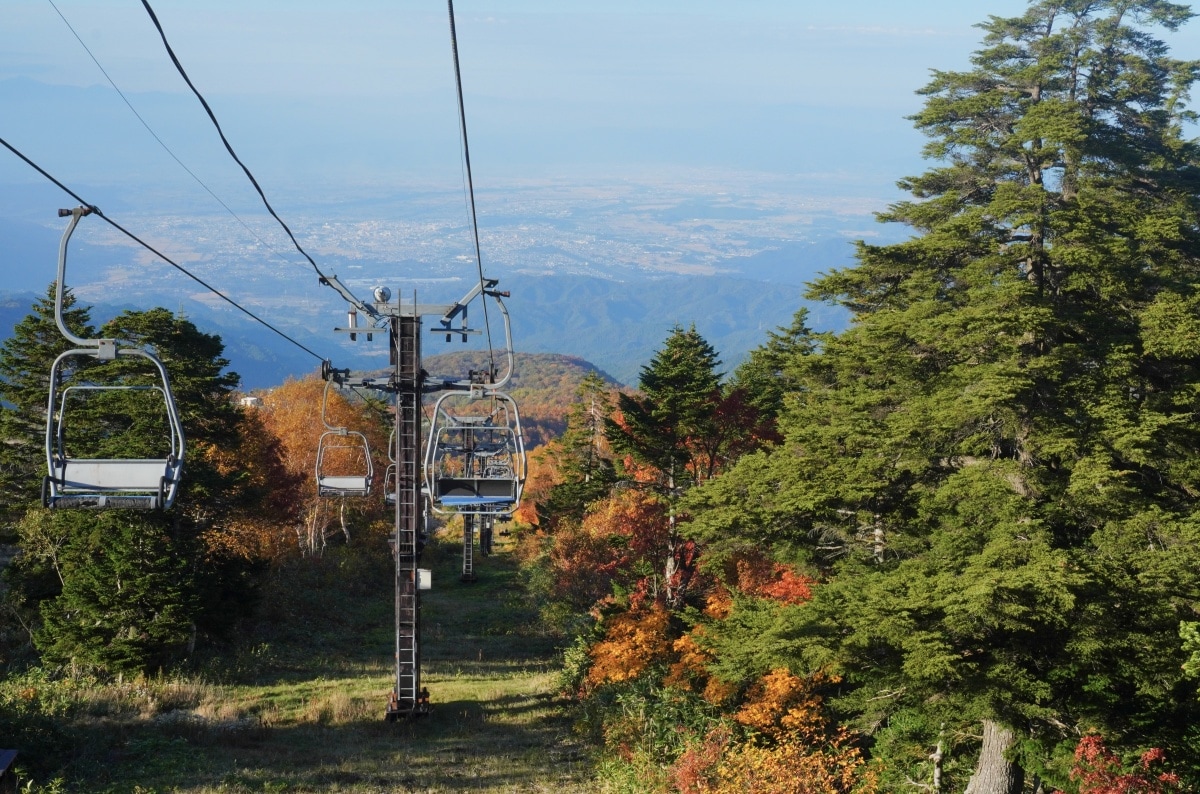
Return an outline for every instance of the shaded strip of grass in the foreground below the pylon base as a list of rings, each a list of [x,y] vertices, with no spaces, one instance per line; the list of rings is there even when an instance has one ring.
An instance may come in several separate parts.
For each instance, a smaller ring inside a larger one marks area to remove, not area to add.
[[[72,727],[91,752],[70,777],[83,790],[592,790],[590,762],[552,700],[451,700],[395,723],[382,703],[378,717],[340,723],[97,721]]]

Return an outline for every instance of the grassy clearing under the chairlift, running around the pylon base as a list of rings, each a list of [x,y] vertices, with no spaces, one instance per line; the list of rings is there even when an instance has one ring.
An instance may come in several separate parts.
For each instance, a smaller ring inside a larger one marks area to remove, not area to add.
[[[254,645],[208,679],[107,687],[72,726],[71,788],[156,792],[588,792],[590,766],[552,694],[552,642],[511,558],[461,584],[454,543],[426,553],[425,685],[433,712],[383,720],[391,687],[386,561],[293,571]],[[341,558],[341,559],[337,559]]]

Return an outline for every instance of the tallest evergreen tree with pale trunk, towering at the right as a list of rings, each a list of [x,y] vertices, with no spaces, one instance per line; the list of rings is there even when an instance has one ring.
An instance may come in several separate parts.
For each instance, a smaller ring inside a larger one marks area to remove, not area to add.
[[[904,724],[983,735],[952,781],[970,794],[1068,786],[1072,726],[1196,758],[1177,632],[1200,602],[1200,67],[1148,32],[1189,16],[1036,1],[984,23],[914,116],[941,164],[881,218],[918,236],[814,284],[852,327],[793,359],[785,443],[688,505],[697,539],[806,546],[826,577],[714,642],[746,670],[836,669],[877,747]]]

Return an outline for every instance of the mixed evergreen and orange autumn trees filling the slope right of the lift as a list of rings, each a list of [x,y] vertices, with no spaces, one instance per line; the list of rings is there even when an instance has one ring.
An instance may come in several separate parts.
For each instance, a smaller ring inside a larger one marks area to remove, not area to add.
[[[988,19],[922,91],[912,239],[810,287],[846,332],[721,383],[679,327],[572,415],[524,552],[629,788],[1200,784],[1189,17]]]

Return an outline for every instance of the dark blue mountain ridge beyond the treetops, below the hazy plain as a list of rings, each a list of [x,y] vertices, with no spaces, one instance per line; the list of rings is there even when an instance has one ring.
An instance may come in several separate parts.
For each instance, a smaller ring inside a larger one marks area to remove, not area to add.
[[[726,373],[766,341],[767,331],[788,325],[800,306],[809,307],[817,330],[839,330],[845,325],[844,312],[804,301],[798,287],[743,278],[614,282],[583,276],[512,276],[504,285],[512,293],[508,305],[517,350],[574,356],[625,384],[636,383],[642,365],[676,324],[685,327],[694,324],[720,354]],[[29,313],[35,300],[34,293],[0,293],[0,338],[12,333],[13,325]],[[132,308],[115,302],[82,302],[92,306],[96,324]],[[241,375],[246,389],[271,386],[320,366],[317,356],[239,313],[179,299],[161,305],[173,311],[182,308],[202,331],[220,335],[230,368]],[[335,366],[376,369],[386,362],[382,335],[373,343],[360,341],[352,347],[331,332],[343,321],[344,317],[331,315],[325,329],[287,327],[287,332],[320,356],[330,357]],[[427,359],[448,349],[470,353],[448,348],[440,338],[426,335],[422,350]]]

